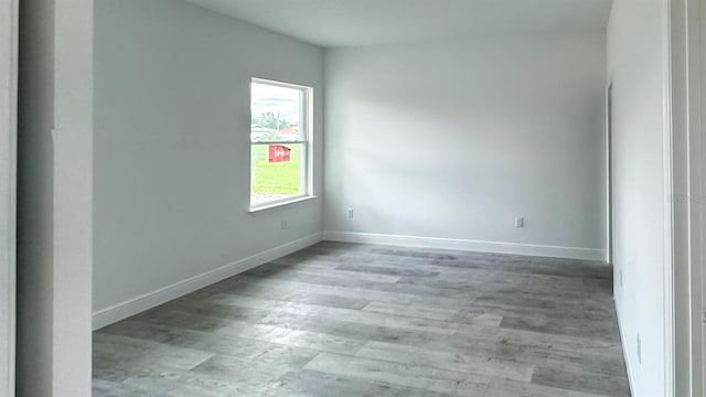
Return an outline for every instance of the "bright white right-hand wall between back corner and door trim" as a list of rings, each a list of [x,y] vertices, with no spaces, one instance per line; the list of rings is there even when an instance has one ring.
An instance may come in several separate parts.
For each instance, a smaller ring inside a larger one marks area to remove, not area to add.
[[[613,84],[614,297],[632,391],[645,397],[666,395],[663,10],[657,0],[616,0],[608,26],[608,76]]]

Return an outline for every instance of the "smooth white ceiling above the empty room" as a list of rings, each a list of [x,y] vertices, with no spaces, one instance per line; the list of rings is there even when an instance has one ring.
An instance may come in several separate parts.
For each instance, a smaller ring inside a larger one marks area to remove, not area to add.
[[[603,30],[611,0],[186,0],[320,46]]]

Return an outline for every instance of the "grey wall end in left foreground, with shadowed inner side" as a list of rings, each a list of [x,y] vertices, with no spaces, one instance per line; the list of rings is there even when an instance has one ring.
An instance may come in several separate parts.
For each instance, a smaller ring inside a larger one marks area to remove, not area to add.
[[[88,396],[93,0],[20,7],[17,395]]]

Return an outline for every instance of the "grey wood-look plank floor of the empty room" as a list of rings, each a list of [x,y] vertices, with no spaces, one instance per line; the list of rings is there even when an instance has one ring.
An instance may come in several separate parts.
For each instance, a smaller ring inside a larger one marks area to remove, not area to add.
[[[611,294],[587,261],[321,243],[95,332],[94,396],[629,396]]]

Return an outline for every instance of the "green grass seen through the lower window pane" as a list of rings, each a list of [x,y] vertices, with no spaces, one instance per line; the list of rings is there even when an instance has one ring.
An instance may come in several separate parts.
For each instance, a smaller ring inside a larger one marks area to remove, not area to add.
[[[288,144],[291,149],[290,160],[270,163],[267,144],[252,147],[252,161],[255,167],[250,171],[250,191],[253,193],[299,194],[299,164],[301,146]]]

